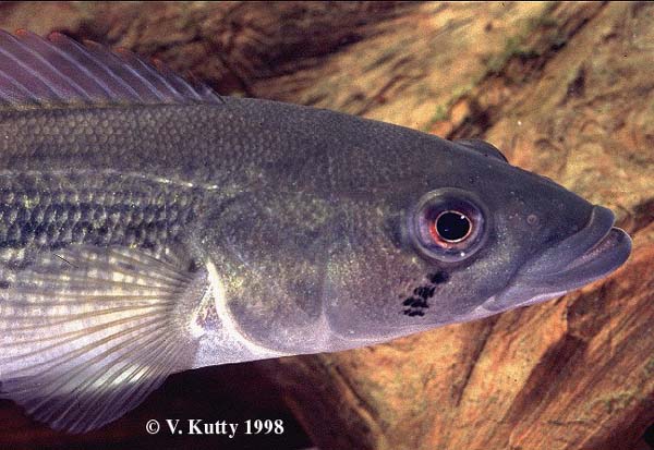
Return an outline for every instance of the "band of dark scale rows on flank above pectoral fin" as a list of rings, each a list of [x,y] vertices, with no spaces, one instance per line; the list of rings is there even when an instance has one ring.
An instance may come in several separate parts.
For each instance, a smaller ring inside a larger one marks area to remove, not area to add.
[[[158,248],[197,219],[204,194],[137,175],[2,174],[2,260],[20,266],[37,251],[70,244]],[[21,248],[24,255],[7,252]]]

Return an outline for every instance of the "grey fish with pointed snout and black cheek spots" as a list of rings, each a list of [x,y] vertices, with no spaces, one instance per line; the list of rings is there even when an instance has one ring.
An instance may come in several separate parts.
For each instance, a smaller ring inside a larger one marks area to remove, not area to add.
[[[558,297],[627,260],[614,224],[484,141],[0,32],[0,397],[58,430],[177,372]]]

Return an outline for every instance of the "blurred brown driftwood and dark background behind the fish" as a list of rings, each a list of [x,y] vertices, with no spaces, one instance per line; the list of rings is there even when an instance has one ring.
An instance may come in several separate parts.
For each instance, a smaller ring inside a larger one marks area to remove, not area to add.
[[[0,401],[0,448],[654,448],[654,3],[3,2],[0,28],[126,47],[223,95],[481,137],[634,239],[626,266],[557,301],[177,374],[86,435]],[[150,418],[281,418],[284,433],[149,436]]]

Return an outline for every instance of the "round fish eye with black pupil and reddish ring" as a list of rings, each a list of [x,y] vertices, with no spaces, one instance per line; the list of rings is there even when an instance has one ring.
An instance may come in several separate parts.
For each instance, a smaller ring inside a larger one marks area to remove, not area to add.
[[[410,234],[425,256],[447,263],[472,256],[485,241],[486,214],[467,191],[447,188],[424,195],[410,214]]]

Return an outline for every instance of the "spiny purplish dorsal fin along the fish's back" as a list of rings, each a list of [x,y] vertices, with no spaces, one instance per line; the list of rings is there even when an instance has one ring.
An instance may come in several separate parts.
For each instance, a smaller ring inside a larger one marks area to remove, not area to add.
[[[157,69],[129,50],[82,46],[61,33],[44,39],[20,29],[0,31],[0,105],[220,102],[207,86],[192,86],[169,69]]]

